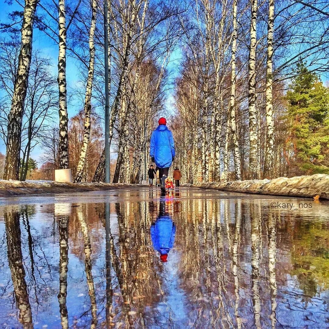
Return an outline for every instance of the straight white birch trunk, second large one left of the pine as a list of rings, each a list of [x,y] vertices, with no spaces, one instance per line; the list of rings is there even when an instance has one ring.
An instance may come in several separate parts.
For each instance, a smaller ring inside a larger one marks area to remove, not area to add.
[[[258,179],[257,115],[256,115],[256,20],[257,0],[251,0],[248,105],[249,105],[249,179]]]

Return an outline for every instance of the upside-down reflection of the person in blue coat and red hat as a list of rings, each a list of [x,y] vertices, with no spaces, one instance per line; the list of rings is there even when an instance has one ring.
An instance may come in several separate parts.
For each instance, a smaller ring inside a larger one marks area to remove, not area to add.
[[[168,253],[174,245],[176,226],[164,207],[165,202],[160,202],[159,216],[151,225],[151,239],[154,249],[160,252],[161,261],[167,262]]]

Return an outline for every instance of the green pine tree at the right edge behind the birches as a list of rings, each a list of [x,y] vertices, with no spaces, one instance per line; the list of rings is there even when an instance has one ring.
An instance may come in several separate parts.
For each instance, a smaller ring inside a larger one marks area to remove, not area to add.
[[[294,164],[301,173],[329,174],[329,89],[302,61],[286,95],[289,138]]]

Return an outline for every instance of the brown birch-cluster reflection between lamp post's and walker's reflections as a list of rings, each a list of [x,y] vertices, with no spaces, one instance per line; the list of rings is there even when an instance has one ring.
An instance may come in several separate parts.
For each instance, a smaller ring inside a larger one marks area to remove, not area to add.
[[[159,275],[162,266],[151,247],[149,206],[147,203],[116,203],[117,242],[109,233],[111,261],[118,283],[117,287],[113,285],[113,290],[115,296],[120,296],[114,300],[113,321],[125,327],[134,324],[133,327],[147,328],[157,322],[159,315],[150,306],[164,295]]]

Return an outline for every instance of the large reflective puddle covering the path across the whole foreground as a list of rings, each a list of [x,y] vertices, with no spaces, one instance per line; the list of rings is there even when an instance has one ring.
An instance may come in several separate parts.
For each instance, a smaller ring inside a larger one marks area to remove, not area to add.
[[[181,188],[0,200],[1,328],[328,328],[329,202]]]

